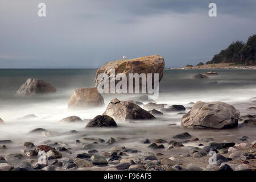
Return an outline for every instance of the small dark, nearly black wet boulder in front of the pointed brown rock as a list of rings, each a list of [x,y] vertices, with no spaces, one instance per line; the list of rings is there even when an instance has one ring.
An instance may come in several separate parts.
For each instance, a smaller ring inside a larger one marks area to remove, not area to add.
[[[117,127],[117,123],[108,115],[97,115],[86,127]]]

